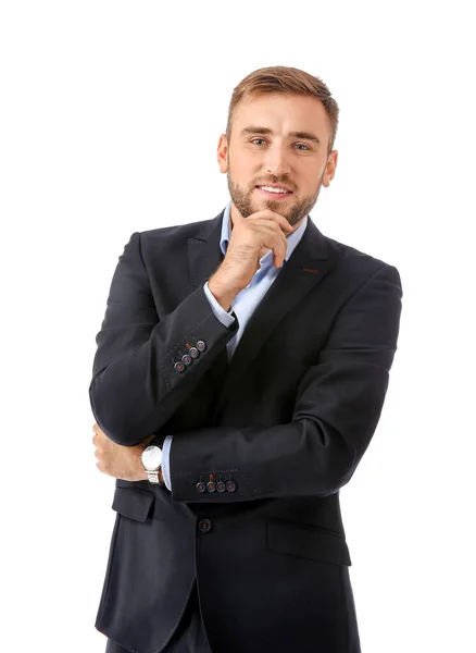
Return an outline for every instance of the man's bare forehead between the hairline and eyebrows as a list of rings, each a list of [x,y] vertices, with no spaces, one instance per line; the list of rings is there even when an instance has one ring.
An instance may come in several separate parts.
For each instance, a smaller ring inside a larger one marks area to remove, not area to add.
[[[235,133],[251,124],[280,133],[315,131],[323,137],[330,132],[321,100],[284,93],[261,93],[242,98],[235,108],[233,123]]]

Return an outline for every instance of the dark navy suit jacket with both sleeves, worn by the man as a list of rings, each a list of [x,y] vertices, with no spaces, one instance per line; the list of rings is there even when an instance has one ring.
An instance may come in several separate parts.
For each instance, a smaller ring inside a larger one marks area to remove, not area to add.
[[[134,233],[112,280],[92,412],[126,446],[174,435],[172,493],[116,481],[96,627],[159,653],[197,582],[214,652],[355,653],[339,490],[380,416],[400,276],[310,219],[228,364],[237,323],[203,292],[222,217]]]

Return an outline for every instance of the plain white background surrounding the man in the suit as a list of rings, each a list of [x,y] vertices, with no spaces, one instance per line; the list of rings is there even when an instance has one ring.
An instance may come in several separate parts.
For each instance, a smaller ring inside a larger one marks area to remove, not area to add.
[[[104,649],[114,481],[88,386],[111,278],[133,232],[222,210],[230,94],[276,64],[341,109],[314,221],[404,289],[381,420],[341,491],[363,652],[476,650],[469,5],[1,4],[2,651]]]

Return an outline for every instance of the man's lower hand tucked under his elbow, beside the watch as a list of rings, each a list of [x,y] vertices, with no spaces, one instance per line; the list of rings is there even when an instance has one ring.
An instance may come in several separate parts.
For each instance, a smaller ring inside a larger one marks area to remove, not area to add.
[[[140,460],[140,455],[149,442],[153,440],[153,433],[140,444],[135,446],[123,446],[108,438],[97,423],[95,423],[92,430],[95,431],[92,443],[98,447],[95,452],[95,456],[98,458],[96,467],[99,471],[108,473],[115,479],[123,479],[124,481],[148,480],[146,470]]]

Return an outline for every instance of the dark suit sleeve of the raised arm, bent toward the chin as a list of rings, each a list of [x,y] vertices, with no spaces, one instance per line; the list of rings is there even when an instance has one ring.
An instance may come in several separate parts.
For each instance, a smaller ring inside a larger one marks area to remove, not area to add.
[[[238,330],[214,315],[203,285],[171,313],[159,317],[141,256],[130,236],[115,269],[89,386],[92,414],[117,444],[131,446],[163,427],[187,399]],[[181,373],[174,368],[187,344],[204,350]]]

